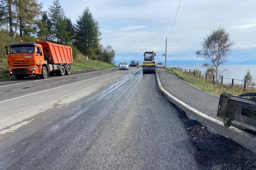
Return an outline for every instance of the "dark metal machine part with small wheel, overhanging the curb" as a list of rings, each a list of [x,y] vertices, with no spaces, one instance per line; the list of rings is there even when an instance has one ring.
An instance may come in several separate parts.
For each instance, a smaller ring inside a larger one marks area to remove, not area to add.
[[[256,93],[235,96],[223,92],[220,95],[217,116],[224,119],[223,124],[226,127],[230,127],[233,122],[256,131]]]

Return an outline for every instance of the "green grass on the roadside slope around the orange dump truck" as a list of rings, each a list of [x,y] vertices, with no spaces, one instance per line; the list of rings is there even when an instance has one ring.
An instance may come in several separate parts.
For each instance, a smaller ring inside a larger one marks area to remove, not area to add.
[[[93,69],[93,68],[107,69],[107,68],[116,68],[116,66],[111,63],[106,63],[104,61],[91,60],[91,59],[87,60],[86,56],[84,56],[81,53],[78,53],[78,56],[76,57],[76,59],[73,60],[73,64],[71,65],[71,72],[76,70],[87,70],[87,69]],[[0,73],[0,81],[11,80],[11,79],[16,79],[16,77],[10,77],[7,71]]]

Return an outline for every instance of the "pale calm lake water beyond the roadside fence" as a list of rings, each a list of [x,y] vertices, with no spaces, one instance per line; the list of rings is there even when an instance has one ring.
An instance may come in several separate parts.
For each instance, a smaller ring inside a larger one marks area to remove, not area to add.
[[[179,67],[183,70],[196,70],[199,69],[201,73],[205,73],[206,68],[203,68],[201,65],[169,65],[168,67]],[[247,73],[247,70],[249,69],[251,72],[251,75],[253,76],[254,82],[256,82],[256,65],[224,65],[221,68],[226,68],[230,72],[225,79],[223,79],[224,82],[232,82],[232,79],[237,79],[234,82],[240,83],[243,80],[244,76]]]

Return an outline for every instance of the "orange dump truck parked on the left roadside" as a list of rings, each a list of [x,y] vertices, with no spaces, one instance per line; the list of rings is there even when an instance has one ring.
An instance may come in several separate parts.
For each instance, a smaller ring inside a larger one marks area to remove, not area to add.
[[[20,42],[7,45],[8,70],[11,77],[23,79],[40,75],[70,75],[72,48],[51,42]]]

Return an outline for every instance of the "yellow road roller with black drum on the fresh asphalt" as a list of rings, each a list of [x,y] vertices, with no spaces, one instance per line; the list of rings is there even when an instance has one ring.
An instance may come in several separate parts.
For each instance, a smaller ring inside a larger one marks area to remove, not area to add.
[[[154,51],[144,52],[144,61],[142,62],[143,74],[155,74],[156,73],[156,61]]]

